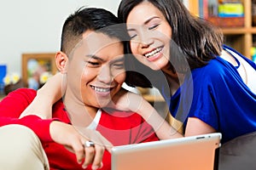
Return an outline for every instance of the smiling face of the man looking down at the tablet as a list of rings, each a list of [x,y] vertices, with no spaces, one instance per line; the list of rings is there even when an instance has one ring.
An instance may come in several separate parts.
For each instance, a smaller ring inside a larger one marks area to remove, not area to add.
[[[67,90],[86,106],[104,107],[125,82],[124,46],[95,31],[83,37],[68,56]]]

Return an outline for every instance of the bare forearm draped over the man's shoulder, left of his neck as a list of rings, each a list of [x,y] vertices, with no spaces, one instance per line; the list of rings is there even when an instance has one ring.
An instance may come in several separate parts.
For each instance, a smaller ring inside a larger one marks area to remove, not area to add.
[[[57,73],[54,77],[49,78],[44,86],[38,89],[37,96],[33,99],[32,103],[26,107],[26,110],[21,113],[20,117],[36,115],[43,119],[51,118],[52,105],[61,99],[62,96],[61,82],[61,73]]]

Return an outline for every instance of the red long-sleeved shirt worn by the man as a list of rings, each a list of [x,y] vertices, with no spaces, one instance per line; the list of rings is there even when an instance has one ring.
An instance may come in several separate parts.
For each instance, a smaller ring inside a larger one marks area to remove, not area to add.
[[[20,88],[0,102],[0,126],[8,124],[21,124],[30,127],[41,140],[49,166],[54,169],[83,169],[77,163],[76,156],[55,143],[49,134],[49,124],[54,120],[71,124],[62,101],[53,106],[53,119],[43,120],[38,116],[25,116],[18,119],[21,112],[32,102],[36,91],[28,88]],[[113,145],[137,144],[158,140],[154,130],[142,116],[126,111],[113,111],[111,114],[102,110],[102,116],[96,130],[108,139]],[[11,146],[10,146],[11,147]],[[102,169],[111,169],[111,156],[105,151]],[[90,167],[88,168],[90,169]]]

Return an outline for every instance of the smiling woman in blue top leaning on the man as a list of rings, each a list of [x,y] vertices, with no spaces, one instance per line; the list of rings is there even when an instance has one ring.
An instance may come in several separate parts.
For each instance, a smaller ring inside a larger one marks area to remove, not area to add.
[[[183,136],[219,132],[224,144],[256,130],[256,65],[224,46],[221,31],[179,0],[123,0],[118,17],[134,55],[125,82],[158,88]]]

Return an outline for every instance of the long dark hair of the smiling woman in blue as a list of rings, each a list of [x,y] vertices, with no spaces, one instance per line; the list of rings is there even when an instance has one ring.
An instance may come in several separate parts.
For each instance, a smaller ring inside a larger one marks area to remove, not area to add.
[[[184,56],[171,54],[171,63],[175,65],[172,71],[186,72],[199,68],[221,54],[224,43],[222,32],[208,21],[190,14],[180,0],[122,0],[118,9],[119,21],[125,23],[131,9],[145,1],[164,14],[172,27],[172,41]]]

